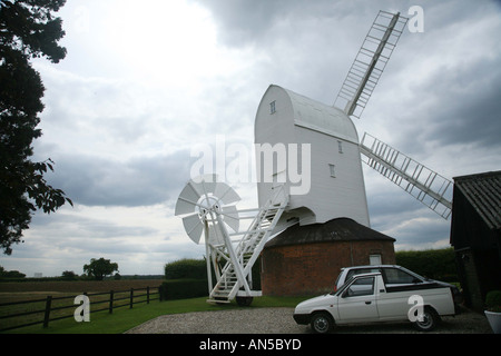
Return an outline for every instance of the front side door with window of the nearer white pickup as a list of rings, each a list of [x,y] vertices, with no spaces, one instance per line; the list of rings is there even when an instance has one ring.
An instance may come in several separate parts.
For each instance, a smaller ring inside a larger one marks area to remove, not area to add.
[[[373,276],[357,278],[342,293],[337,303],[340,322],[362,323],[377,320],[374,284],[375,278]]]

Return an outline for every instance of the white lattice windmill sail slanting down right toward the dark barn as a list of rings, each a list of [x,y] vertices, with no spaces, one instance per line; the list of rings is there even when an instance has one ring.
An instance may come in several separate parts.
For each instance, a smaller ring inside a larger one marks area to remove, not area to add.
[[[407,191],[444,219],[452,209],[452,181],[365,134],[360,144],[363,161]]]

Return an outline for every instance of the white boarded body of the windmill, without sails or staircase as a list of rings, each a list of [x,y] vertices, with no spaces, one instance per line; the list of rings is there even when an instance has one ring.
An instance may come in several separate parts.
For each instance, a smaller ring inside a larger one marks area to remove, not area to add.
[[[358,136],[352,120],[340,109],[323,105],[278,86],[269,86],[256,113],[256,148],[269,144],[273,148],[297,146],[298,174],[302,182],[292,182],[287,160],[273,166],[273,177],[266,177],[264,156],[257,160],[257,192],[259,206],[266,201],[273,180],[286,178],[286,191],[292,187],[307,185],[304,195],[291,195],[289,207],[283,214],[282,224],[299,219],[302,225],[325,222],[334,218],[347,217],[370,226]],[[302,145],[310,144],[311,156],[302,156]],[[287,155],[289,150],[287,150]],[[281,157],[277,151],[276,157]],[[283,157],[282,157],[283,158]],[[311,159],[310,177],[305,159]],[[305,168],[305,169],[302,169]]]

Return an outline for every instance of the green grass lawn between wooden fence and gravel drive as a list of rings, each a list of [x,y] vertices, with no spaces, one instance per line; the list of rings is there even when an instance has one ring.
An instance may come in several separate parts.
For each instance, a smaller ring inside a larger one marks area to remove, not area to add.
[[[229,305],[213,305],[207,297],[180,300],[153,300],[150,304],[135,305],[115,309],[114,314],[97,312],[90,314],[89,323],[77,323],[73,318],[50,322],[48,328],[41,325],[13,329],[9,334],[121,334],[128,329],[166,314],[190,312],[223,310],[228,308],[295,307],[308,297],[258,297],[249,307],[239,307],[235,301]],[[91,310],[92,312],[92,310]]]

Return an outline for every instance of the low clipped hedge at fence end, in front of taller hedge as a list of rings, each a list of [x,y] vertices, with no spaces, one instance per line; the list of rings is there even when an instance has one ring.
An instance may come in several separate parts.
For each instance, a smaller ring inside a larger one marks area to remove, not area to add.
[[[160,285],[160,299],[186,299],[208,296],[207,279],[170,279]]]

